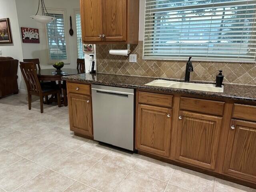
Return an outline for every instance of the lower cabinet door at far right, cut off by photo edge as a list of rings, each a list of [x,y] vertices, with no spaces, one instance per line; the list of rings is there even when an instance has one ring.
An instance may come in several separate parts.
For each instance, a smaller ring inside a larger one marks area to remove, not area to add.
[[[231,121],[224,173],[256,183],[256,123]]]

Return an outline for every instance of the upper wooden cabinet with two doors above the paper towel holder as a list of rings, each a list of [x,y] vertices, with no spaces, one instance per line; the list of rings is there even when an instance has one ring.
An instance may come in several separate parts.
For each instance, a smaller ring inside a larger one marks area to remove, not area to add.
[[[138,44],[139,0],[80,0],[82,40]]]

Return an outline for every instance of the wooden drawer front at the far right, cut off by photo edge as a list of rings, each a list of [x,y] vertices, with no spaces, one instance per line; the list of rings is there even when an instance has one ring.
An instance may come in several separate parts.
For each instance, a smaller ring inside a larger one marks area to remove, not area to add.
[[[235,103],[233,118],[256,121],[256,106]]]

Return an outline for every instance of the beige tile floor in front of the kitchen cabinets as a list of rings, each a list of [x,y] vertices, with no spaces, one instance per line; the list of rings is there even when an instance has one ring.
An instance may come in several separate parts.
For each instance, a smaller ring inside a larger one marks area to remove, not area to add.
[[[0,192],[256,192],[69,131],[68,108],[0,99]]]

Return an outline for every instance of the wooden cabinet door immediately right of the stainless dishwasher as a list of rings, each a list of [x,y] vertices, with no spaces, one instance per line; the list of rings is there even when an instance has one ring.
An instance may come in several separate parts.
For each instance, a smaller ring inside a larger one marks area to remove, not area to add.
[[[169,156],[171,115],[171,109],[139,104],[137,149],[161,156]]]

